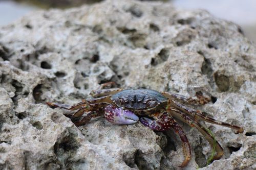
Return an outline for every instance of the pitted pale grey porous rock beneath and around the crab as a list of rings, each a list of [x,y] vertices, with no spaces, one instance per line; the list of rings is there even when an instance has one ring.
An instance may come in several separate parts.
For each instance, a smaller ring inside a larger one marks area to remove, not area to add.
[[[197,109],[244,127],[208,123],[224,156],[206,166],[207,140],[178,122],[192,157],[183,169],[255,169],[256,50],[242,30],[203,10],[105,1],[38,11],[0,28],[0,169],[179,169],[179,137],[103,117],[75,127],[45,102],[74,104],[99,84],[151,88],[212,102]]]

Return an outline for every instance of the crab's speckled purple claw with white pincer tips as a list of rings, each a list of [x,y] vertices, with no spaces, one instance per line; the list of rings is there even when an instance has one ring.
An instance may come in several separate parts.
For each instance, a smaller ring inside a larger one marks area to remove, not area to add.
[[[139,117],[129,110],[123,110],[122,108],[116,108],[113,105],[105,107],[106,120],[117,125],[135,124],[139,121]]]

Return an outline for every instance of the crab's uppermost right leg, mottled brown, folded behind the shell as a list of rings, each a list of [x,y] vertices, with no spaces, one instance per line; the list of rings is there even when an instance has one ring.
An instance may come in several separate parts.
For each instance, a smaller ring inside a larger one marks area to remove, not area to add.
[[[210,102],[210,98],[203,96],[202,93],[196,93],[196,96],[191,97],[191,96],[185,96],[173,92],[161,92],[165,98],[172,99],[172,100],[178,100],[182,102],[186,102],[191,105],[204,105],[206,103]]]

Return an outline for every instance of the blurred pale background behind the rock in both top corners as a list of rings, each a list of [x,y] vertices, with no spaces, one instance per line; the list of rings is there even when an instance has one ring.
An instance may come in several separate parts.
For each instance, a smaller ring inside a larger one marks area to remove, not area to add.
[[[71,8],[101,0],[0,0],[0,26],[7,25],[29,12],[39,9]],[[256,42],[256,1],[254,0],[163,0],[182,9],[205,9],[216,17],[242,27],[245,35]]]

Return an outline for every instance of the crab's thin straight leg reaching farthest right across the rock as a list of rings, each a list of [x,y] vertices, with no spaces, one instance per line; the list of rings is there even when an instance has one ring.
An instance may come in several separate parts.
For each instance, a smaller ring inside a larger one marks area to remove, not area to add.
[[[200,120],[204,120],[206,122],[209,122],[211,124],[217,124],[217,125],[221,125],[221,126],[225,126],[225,127],[228,127],[228,128],[232,128],[232,129],[235,129],[238,131],[238,133],[243,133],[243,128],[241,127],[238,127],[238,126],[234,126],[234,125],[230,125],[230,124],[227,124],[225,122],[221,122],[219,120],[216,120],[216,119],[213,119],[213,118],[210,118],[210,117],[207,117],[205,116],[201,111],[199,110],[195,110],[193,108],[190,108],[190,107],[187,107],[177,101],[172,101],[170,102],[171,105],[173,105],[175,108],[183,111],[184,113],[187,113],[188,115],[191,115],[194,117],[194,119],[200,119]]]

